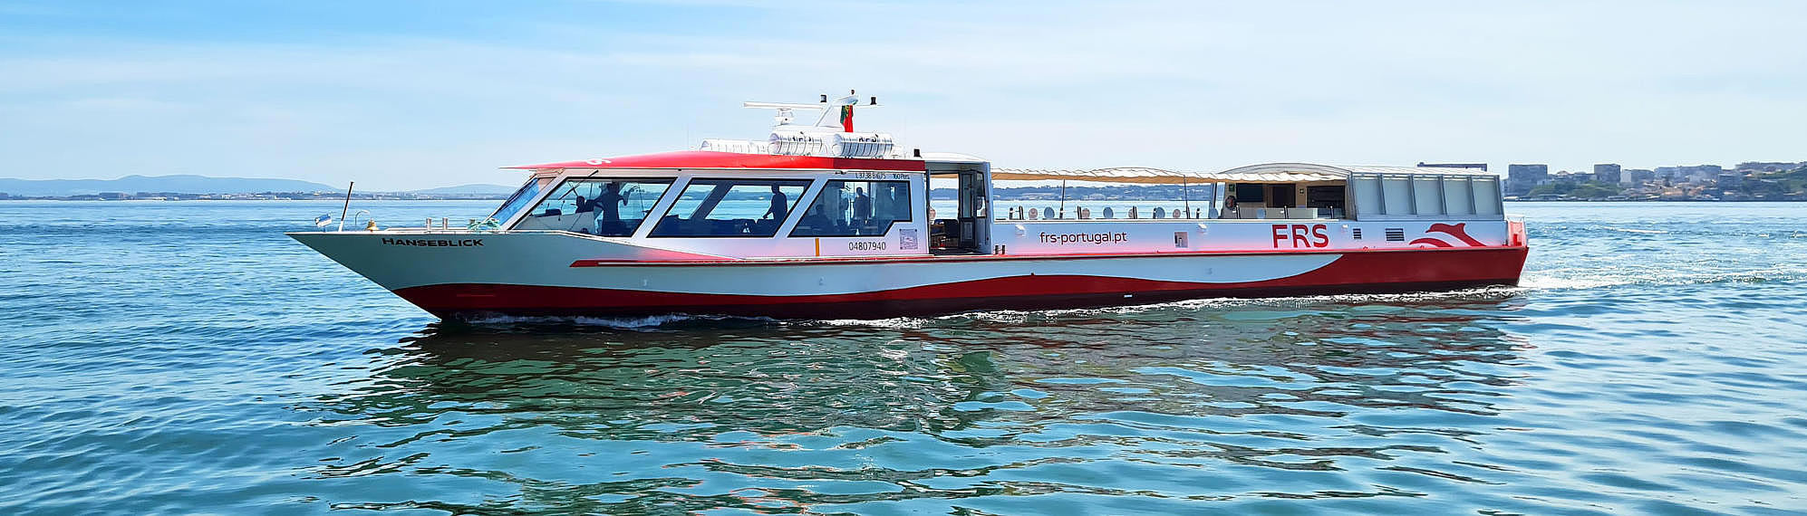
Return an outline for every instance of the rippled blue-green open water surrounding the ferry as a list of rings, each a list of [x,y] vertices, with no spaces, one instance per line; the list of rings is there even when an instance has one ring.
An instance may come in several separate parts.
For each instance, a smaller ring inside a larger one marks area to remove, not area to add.
[[[0,202],[0,512],[1807,511],[1807,204],[1509,211],[1518,289],[448,327],[334,202]]]

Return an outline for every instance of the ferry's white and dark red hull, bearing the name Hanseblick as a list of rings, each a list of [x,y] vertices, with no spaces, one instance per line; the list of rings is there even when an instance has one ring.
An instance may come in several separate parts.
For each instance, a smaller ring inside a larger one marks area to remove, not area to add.
[[[1447,290],[1514,285],[1527,254],[1520,244],[710,260],[546,233],[416,235],[414,240],[452,245],[405,247],[394,244],[394,235],[296,233],[295,238],[441,318],[893,318],[1227,296]]]

